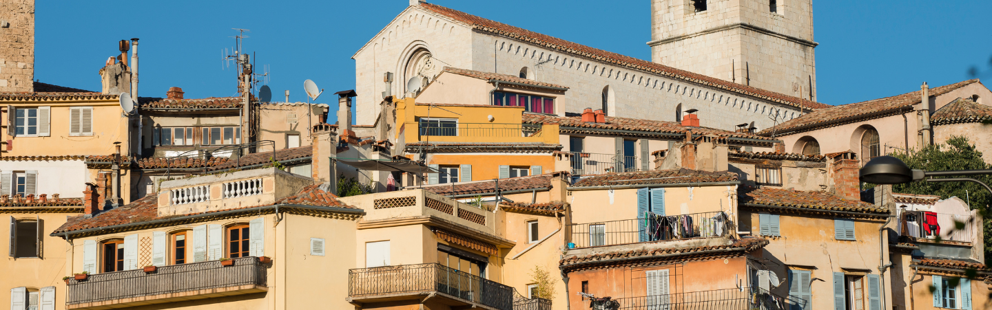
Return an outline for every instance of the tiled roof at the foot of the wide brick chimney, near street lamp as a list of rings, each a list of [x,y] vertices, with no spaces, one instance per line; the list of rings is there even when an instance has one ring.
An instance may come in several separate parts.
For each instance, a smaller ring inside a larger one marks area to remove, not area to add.
[[[847,200],[825,192],[781,188],[740,186],[738,187],[738,202],[742,205],[803,208],[813,211],[889,214],[889,210],[877,208],[874,204],[864,201]]]

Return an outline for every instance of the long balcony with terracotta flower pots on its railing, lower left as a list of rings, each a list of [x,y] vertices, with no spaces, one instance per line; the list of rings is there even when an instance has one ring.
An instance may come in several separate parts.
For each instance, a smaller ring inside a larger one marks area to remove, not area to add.
[[[161,266],[151,273],[137,269],[69,279],[65,309],[125,308],[268,290],[265,264],[258,258],[233,260],[230,266],[214,260]]]

